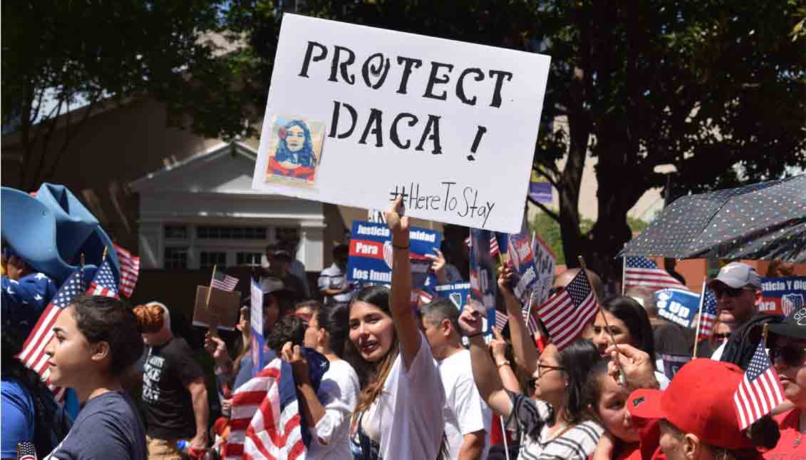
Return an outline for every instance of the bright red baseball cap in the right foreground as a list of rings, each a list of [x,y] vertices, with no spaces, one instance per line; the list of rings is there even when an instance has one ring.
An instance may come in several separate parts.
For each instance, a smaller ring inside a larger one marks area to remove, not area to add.
[[[752,449],[750,439],[739,429],[733,406],[733,394],[744,374],[729,362],[697,358],[680,368],[666,391],[633,391],[627,410],[631,416],[666,419],[708,445]]]

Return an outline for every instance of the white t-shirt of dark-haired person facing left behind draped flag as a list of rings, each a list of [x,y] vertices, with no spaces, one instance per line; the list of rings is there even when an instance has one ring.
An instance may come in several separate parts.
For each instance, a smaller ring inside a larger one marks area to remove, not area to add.
[[[325,416],[311,429],[309,460],[350,460],[350,422],[358,399],[358,374],[346,361],[330,362],[317,396]]]

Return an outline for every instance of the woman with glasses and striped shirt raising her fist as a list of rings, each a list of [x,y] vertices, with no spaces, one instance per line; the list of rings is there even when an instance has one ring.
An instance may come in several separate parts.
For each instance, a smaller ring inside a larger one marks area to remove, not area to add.
[[[510,429],[521,435],[519,458],[572,458],[587,460],[596,449],[602,428],[586,420],[582,387],[588,370],[599,360],[591,341],[578,340],[562,351],[546,345],[538,358],[534,399],[505,389],[490,359],[479,312],[465,308],[459,326],[470,340],[473,378],[481,397],[507,419]]]

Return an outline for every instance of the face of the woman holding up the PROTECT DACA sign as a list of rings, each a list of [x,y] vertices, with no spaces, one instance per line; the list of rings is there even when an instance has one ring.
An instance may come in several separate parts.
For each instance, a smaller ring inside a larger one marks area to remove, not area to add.
[[[392,317],[372,303],[355,302],[350,307],[350,341],[361,358],[378,362],[392,348]]]

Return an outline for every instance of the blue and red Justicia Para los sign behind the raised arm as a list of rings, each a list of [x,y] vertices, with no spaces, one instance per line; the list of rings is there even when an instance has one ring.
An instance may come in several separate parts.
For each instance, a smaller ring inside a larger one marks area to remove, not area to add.
[[[412,227],[409,244],[413,273],[412,286],[423,286],[430,261],[442,243],[442,233],[427,228]],[[392,231],[386,224],[356,220],[353,222],[350,253],[347,258],[347,279],[353,282],[389,284],[392,282]],[[419,276],[418,276],[419,275]]]

